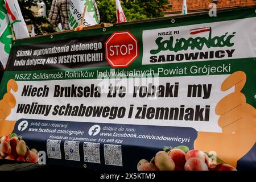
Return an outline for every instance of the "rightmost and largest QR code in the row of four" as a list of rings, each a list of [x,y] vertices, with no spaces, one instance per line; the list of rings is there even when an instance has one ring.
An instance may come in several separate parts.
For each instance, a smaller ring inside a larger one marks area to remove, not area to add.
[[[123,166],[121,145],[104,144],[104,158],[106,165]]]

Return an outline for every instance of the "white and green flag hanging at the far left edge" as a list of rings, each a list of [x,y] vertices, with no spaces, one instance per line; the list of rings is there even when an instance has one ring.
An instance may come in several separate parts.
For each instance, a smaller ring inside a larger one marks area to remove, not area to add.
[[[0,61],[4,68],[11,52],[12,40],[13,35],[11,34],[11,24],[7,15],[5,1],[0,0]]]

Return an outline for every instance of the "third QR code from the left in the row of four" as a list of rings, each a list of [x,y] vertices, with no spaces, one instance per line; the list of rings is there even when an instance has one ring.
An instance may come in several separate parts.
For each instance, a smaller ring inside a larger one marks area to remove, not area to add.
[[[84,142],[84,162],[101,163],[100,143]]]

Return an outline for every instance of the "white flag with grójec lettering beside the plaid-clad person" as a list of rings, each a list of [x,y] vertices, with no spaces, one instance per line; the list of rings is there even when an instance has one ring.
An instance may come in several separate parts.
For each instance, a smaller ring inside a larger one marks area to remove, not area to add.
[[[69,28],[74,29],[81,24],[82,14],[84,8],[87,6],[87,10],[84,17],[84,26],[92,26],[98,24],[96,10],[93,5],[93,0],[71,0],[70,2],[70,14],[69,14]]]

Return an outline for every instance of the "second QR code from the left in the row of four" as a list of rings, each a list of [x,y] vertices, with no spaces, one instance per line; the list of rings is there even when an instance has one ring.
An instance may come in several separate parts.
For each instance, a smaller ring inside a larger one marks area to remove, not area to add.
[[[73,141],[64,142],[64,151],[65,151],[66,160],[80,161],[79,143],[80,142],[73,142]]]

